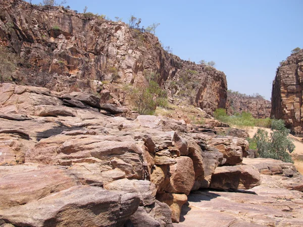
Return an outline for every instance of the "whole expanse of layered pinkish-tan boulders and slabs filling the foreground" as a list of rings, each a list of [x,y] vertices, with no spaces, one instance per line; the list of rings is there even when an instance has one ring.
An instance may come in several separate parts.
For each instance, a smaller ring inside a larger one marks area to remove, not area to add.
[[[1,84],[0,226],[301,226],[295,167],[243,154],[215,129]]]

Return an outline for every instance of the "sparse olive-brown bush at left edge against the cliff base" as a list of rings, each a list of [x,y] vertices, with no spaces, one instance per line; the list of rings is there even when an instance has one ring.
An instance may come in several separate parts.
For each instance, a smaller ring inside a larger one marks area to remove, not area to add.
[[[5,47],[0,47],[0,83],[12,79],[11,75],[16,70],[17,59],[16,54]]]

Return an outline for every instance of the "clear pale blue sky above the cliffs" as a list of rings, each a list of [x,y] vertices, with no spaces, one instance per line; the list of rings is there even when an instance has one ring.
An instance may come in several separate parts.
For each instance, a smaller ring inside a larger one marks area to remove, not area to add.
[[[32,0],[33,4],[41,1]],[[60,0],[57,2],[60,2]],[[271,97],[279,62],[303,48],[303,0],[67,0],[72,10],[130,15],[144,27],[157,22],[156,35],[181,59],[215,61],[228,89]]]

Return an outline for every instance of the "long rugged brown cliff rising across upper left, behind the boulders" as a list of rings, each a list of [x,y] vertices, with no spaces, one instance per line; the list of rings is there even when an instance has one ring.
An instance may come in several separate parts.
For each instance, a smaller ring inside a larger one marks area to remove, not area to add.
[[[0,3],[0,44],[12,47],[25,61],[13,77],[15,83],[37,86],[48,73],[52,80],[46,87],[52,90],[100,92],[101,81],[109,81],[105,87],[124,102],[117,87],[146,83],[153,72],[169,96],[185,96],[210,110],[225,108],[224,73],[166,52],[150,33],[61,7],[21,0]]]

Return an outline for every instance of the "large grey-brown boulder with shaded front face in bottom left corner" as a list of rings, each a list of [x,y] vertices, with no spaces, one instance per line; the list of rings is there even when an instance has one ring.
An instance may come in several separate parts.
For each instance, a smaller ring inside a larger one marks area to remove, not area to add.
[[[0,218],[25,226],[123,226],[139,201],[136,193],[76,186],[26,205],[2,209]]]

